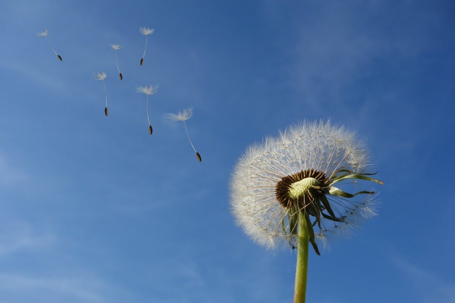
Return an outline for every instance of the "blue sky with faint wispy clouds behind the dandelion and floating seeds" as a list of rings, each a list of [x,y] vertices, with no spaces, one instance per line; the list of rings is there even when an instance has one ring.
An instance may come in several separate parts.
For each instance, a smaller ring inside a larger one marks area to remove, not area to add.
[[[0,302],[290,302],[295,251],[235,226],[229,180],[249,144],[329,118],[368,142],[386,185],[378,217],[310,254],[307,301],[455,302],[454,13],[449,1],[3,1]],[[155,32],[140,66],[143,26]],[[36,36],[45,27],[63,62]],[[148,84],[152,136],[135,91]],[[165,116],[189,106],[202,163]]]

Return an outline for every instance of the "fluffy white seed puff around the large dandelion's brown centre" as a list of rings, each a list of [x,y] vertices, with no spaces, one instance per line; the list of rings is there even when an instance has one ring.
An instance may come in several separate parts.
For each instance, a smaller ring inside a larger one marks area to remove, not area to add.
[[[295,211],[279,201],[278,183],[299,172],[316,171],[324,175],[324,184],[329,184],[342,174],[365,172],[368,159],[363,143],[342,126],[332,126],[330,122],[292,125],[277,137],[251,145],[237,163],[231,179],[231,209],[236,222],[253,241],[267,248],[289,247],[296,241],[296,233],[290,232],[295,226],[290,228],[289,219]],[[300,183],[287,187],[291,199],[298,200],[309,189],[318,190],[327,197],[335,216],[342,218],[342,221],[335,221],[320,216],[314,234],[324,245],[328,234],[355,226],[375,214],[370,194],[367,198],[365,195],[363,198],[362,195],[345,198],[330,194],[328,187],[322,188],[318,180],[301,179]],[[353,183],[352,179],[347,182]],[[322,212],[327,214],[325,207],[321,207]],[[310,219],[312,223],[316,222],[313,221],[315,217],[310,216]]]

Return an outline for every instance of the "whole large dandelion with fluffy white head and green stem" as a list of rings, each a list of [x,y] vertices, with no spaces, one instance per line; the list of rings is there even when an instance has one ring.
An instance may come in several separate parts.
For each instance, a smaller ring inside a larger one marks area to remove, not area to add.
[[[304,302],[308,244],[344,232],[375,215],[374,192],[348,193],[356,180],[383,182],[366,172],[369,156],[353,132],[330,122],[303,122],[248,148],[231,180],[237,224],[268,248],[297,248],[294,302]],[[360,196],[367,196],[358,199]]]

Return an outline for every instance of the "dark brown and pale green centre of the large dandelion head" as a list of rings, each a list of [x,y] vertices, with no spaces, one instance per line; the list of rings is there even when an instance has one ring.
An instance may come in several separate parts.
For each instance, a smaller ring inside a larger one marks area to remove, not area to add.
[[[284,208],[302,209],[318,195],[324,194],[321,188],[327,183],[324,173],[313,169],[303,170],[281,178],[275,187],[275,196]]]

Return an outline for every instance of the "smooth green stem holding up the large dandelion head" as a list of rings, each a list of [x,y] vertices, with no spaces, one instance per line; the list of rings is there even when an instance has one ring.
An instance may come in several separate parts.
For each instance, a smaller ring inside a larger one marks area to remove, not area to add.
[[[306,212],[299,211],[299,233],[297,242],[297,268],[295,270],[294,303],[305,303],[306,274],[308,272],[308,230]]]

